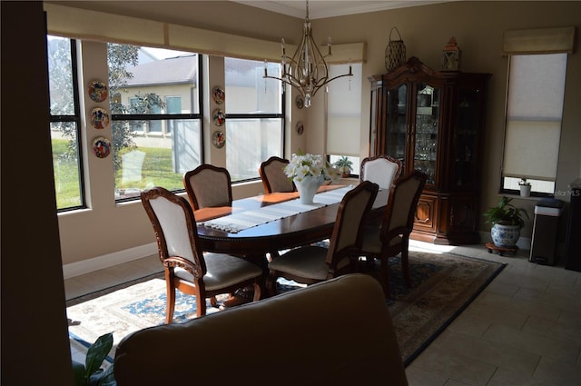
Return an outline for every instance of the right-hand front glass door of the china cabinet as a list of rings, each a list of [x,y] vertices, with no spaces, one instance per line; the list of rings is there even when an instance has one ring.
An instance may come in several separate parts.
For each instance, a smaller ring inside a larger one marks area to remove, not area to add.
[[[426,183],[435,183],[438,153],[440,90],[419,84],[416,94],[416,130],[414,169],[428,175]]]

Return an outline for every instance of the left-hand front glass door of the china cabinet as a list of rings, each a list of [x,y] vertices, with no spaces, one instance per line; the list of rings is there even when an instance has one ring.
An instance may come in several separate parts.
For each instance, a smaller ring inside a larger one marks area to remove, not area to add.
[[[400,84],[397,88],[388,90],[387,110],[388,132],[385,138],[386,153],[399,159],[405,171],[406,134],[408,127],[407,84]]]

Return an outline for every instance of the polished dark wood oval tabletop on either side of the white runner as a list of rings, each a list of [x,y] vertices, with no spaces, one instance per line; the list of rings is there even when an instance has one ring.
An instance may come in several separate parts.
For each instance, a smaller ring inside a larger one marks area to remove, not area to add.
[[[344,185],[322,186],[321,191],[337,189]],[[389,191],[379,191],[373,205],[375,211],[381,211],[388,203]],[[212,218],[231,213],[256,210],[273,203],[298,198],[298,193],[270,193],[255,197],[234,200],[232,206],[203,208],[194,212],[196,222],[201,223]],[[316,198],[315,198],[316,202]],[[339,203],[323,206],[315,210],[291,215],[290,217],[257,225],[238,233],[212,229],[198,225],[198,233],[203,251],[222,252],[241,255],[264,255],[267,252],[280,251],[319,242],[328,239],[333,232]]]

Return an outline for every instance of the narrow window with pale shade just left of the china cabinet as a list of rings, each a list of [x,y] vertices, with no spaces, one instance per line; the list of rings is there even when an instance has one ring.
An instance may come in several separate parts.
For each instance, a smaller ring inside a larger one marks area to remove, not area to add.
[[[362,64],[350,64],[353,76],[335,79],[329,84],[327,153],[329,162],[347,156],[353,163],[352,174],[359,174],[359,133],[361,120]],[[333,64],[329,76],[349,74],[348,64]]]

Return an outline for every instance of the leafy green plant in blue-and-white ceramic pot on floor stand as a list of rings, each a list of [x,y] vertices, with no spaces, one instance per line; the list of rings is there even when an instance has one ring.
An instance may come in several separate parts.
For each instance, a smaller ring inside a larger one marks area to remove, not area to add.
[[[492,223],[490,235],[497,247],[515,248],[520,237],[520,230],[525,226],[528,213],[510,203],[512,198],[503,196],[497,206],[492,206],[484,213],[486,223]]]

